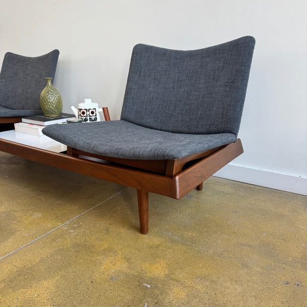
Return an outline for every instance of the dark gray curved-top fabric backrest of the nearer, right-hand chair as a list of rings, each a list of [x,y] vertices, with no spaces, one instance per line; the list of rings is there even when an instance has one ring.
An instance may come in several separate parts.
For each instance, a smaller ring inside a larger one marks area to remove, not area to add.
[[[187,134],[237,134],[255,39],[179,51],[134,47],[121,119]]]

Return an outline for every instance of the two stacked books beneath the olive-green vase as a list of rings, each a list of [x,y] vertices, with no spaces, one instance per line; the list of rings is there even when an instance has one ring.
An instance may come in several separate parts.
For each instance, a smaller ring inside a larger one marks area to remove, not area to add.
[[[48,125],[65,123],[70,118],[75,118],[75,116],[68,113],[61,113],[60,116],[56,117],[47,117],[45,115],[27,116],[21,119],[21,123],[15,123],[15,131],[34,136],[43,136],[42,128]]]

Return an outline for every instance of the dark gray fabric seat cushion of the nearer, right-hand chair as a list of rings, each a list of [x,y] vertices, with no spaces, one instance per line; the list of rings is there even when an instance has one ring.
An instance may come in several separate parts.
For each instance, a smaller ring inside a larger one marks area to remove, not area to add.
[[[43,134],[97,155],[140,160],[178,159],[236,141],[234,134],[188,135],[145,128],[124,120],[56,124]]]

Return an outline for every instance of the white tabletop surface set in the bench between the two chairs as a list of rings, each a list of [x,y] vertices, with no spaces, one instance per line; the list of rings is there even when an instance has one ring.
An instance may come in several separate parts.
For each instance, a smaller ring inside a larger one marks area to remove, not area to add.
[[[46,149],[54,152],[62,152],[67,149],[67,146],[61,144],[47,136],[32,136],[26,133],[16,132],[15,130],[0,132],[0,139],[29,145],[41,149]]]

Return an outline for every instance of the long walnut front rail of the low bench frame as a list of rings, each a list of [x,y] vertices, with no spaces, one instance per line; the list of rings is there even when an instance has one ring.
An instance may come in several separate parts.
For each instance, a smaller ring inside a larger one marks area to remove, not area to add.
[[[176,198],[176,184],[172,178],[160,174],[130,169],[124,165],[105,164],[76,158],[12,141],[0,139],[0,150],[31,161],[74,171],[128,187]]]

